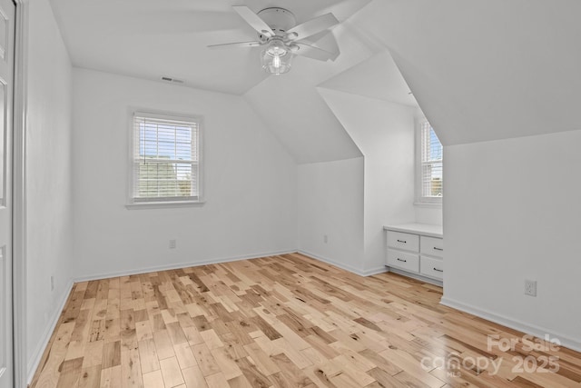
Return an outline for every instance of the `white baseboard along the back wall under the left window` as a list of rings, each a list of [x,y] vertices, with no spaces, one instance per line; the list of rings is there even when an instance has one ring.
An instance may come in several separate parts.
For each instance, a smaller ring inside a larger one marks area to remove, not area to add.
[[[297,252],[297,251],[292,250],[292,251],[264,252],[264,253],[260,253],[260,254],[244,254],[241,256],[223,257],[223,258],[211,259],[211,260],[202,260],[201,262],[155,265],[152,267],[145,267],[145,268],[133,269],[133,270],[123,270],[123,271],[115,271],[115,272],[110,272],[110,273],[77,276],[74,278],[74,283],[86,282],[86,281],[90,281],[90,280],[102,280],[102,279],[108,279],[111,277],[129,276],[132,274],[148,274],[151,272],[175,270],[175,269],[179,269],[179,268],[188,268],[188,267],[197,267],[200,265],[237,262],[239,260],[256,259],[259,257],[276,256],[276,255],[280,255],[280,254],[294,254],[295,252]]]

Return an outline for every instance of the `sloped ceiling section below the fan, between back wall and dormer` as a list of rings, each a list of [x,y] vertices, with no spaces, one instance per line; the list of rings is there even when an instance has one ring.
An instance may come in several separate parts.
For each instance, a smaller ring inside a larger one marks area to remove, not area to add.
[[[341,51],[334,63],[297,57],[290,73],[271,76],[245,95],[271,131],[287,144],[299,164],[361,155],[316,87],[363,58],[369,58],[373,51],[360,45],[343,26],[336,27],[333,32],[338,36]]]

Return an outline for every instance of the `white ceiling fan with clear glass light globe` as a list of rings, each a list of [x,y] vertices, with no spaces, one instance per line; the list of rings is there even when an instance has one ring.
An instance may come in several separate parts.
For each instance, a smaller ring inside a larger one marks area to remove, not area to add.
[[[262,68],[273,75],[281,75],[291,70],[292,57],[303,55],[320,61],[335,60],[339,49],[333,52],[323,50],[313,45],[308,38],[320,37],[329,33],[339,20],[329,13],[312,18],[305,23],[296,25],[296,19],[291,11],[280,7],[269,7],[255,14],[245,5],[234,5],[234,11],[241,15],[258,33],[258,39],[251,42],[227,43],[209,45],[208,47],[257,47],[264,46],[261,51]]]

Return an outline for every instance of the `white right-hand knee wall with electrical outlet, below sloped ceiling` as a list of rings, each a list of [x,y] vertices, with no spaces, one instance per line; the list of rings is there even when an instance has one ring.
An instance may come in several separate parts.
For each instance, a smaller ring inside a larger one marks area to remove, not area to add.
[[[581,350],[579,144],[581,131],[446,148],[444,303]]]

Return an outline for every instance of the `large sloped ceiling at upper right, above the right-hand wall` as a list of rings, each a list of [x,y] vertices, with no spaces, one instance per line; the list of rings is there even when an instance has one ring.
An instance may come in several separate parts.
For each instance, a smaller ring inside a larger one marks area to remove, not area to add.
[[[581,129],[579,15],[576,0],[375,0],[350,23],[449,145]]]

